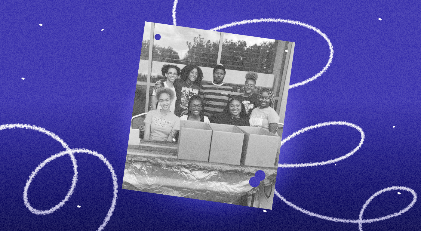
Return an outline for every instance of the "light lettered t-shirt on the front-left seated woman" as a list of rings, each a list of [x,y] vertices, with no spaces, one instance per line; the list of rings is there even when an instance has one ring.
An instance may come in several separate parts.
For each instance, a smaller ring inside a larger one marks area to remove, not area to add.
[[[163,116],[160,109],[149,111],[144,122],[151,124],[152,141],[167,141],[171,131],[180,130],[180,118],[173,113]]]

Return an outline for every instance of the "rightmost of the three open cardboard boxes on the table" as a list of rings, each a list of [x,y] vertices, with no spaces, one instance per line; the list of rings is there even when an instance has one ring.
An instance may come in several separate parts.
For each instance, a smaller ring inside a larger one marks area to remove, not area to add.
[[[241,165],[274,167],[281,138],[261,127],[237,127],[244,132]]]

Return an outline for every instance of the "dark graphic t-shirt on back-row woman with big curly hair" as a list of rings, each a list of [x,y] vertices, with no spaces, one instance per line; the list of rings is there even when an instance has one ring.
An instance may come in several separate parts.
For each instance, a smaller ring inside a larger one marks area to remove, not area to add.
[[[177,95],[174,114],[180,116],[181,112],[187,110],[190,98],[199,94],[200,85],[193,83],[193,85],[190,86],[186,81],[176,79],[174,81],[174,88]]]

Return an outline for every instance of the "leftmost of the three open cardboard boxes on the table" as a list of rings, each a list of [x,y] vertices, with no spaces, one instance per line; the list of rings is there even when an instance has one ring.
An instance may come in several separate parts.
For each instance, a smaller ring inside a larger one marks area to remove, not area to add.
[[[181,120],[178,159],[209,161],[212,130],[208,123]]]

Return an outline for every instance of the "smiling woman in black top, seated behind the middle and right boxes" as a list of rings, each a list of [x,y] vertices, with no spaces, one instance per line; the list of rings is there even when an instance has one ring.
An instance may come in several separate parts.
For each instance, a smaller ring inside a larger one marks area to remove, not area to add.
[[[224,111],[215,114],[210,120],[216,124],[228,124],[237,126],[250,126],[244,104],[237,97],[230,98]]]

